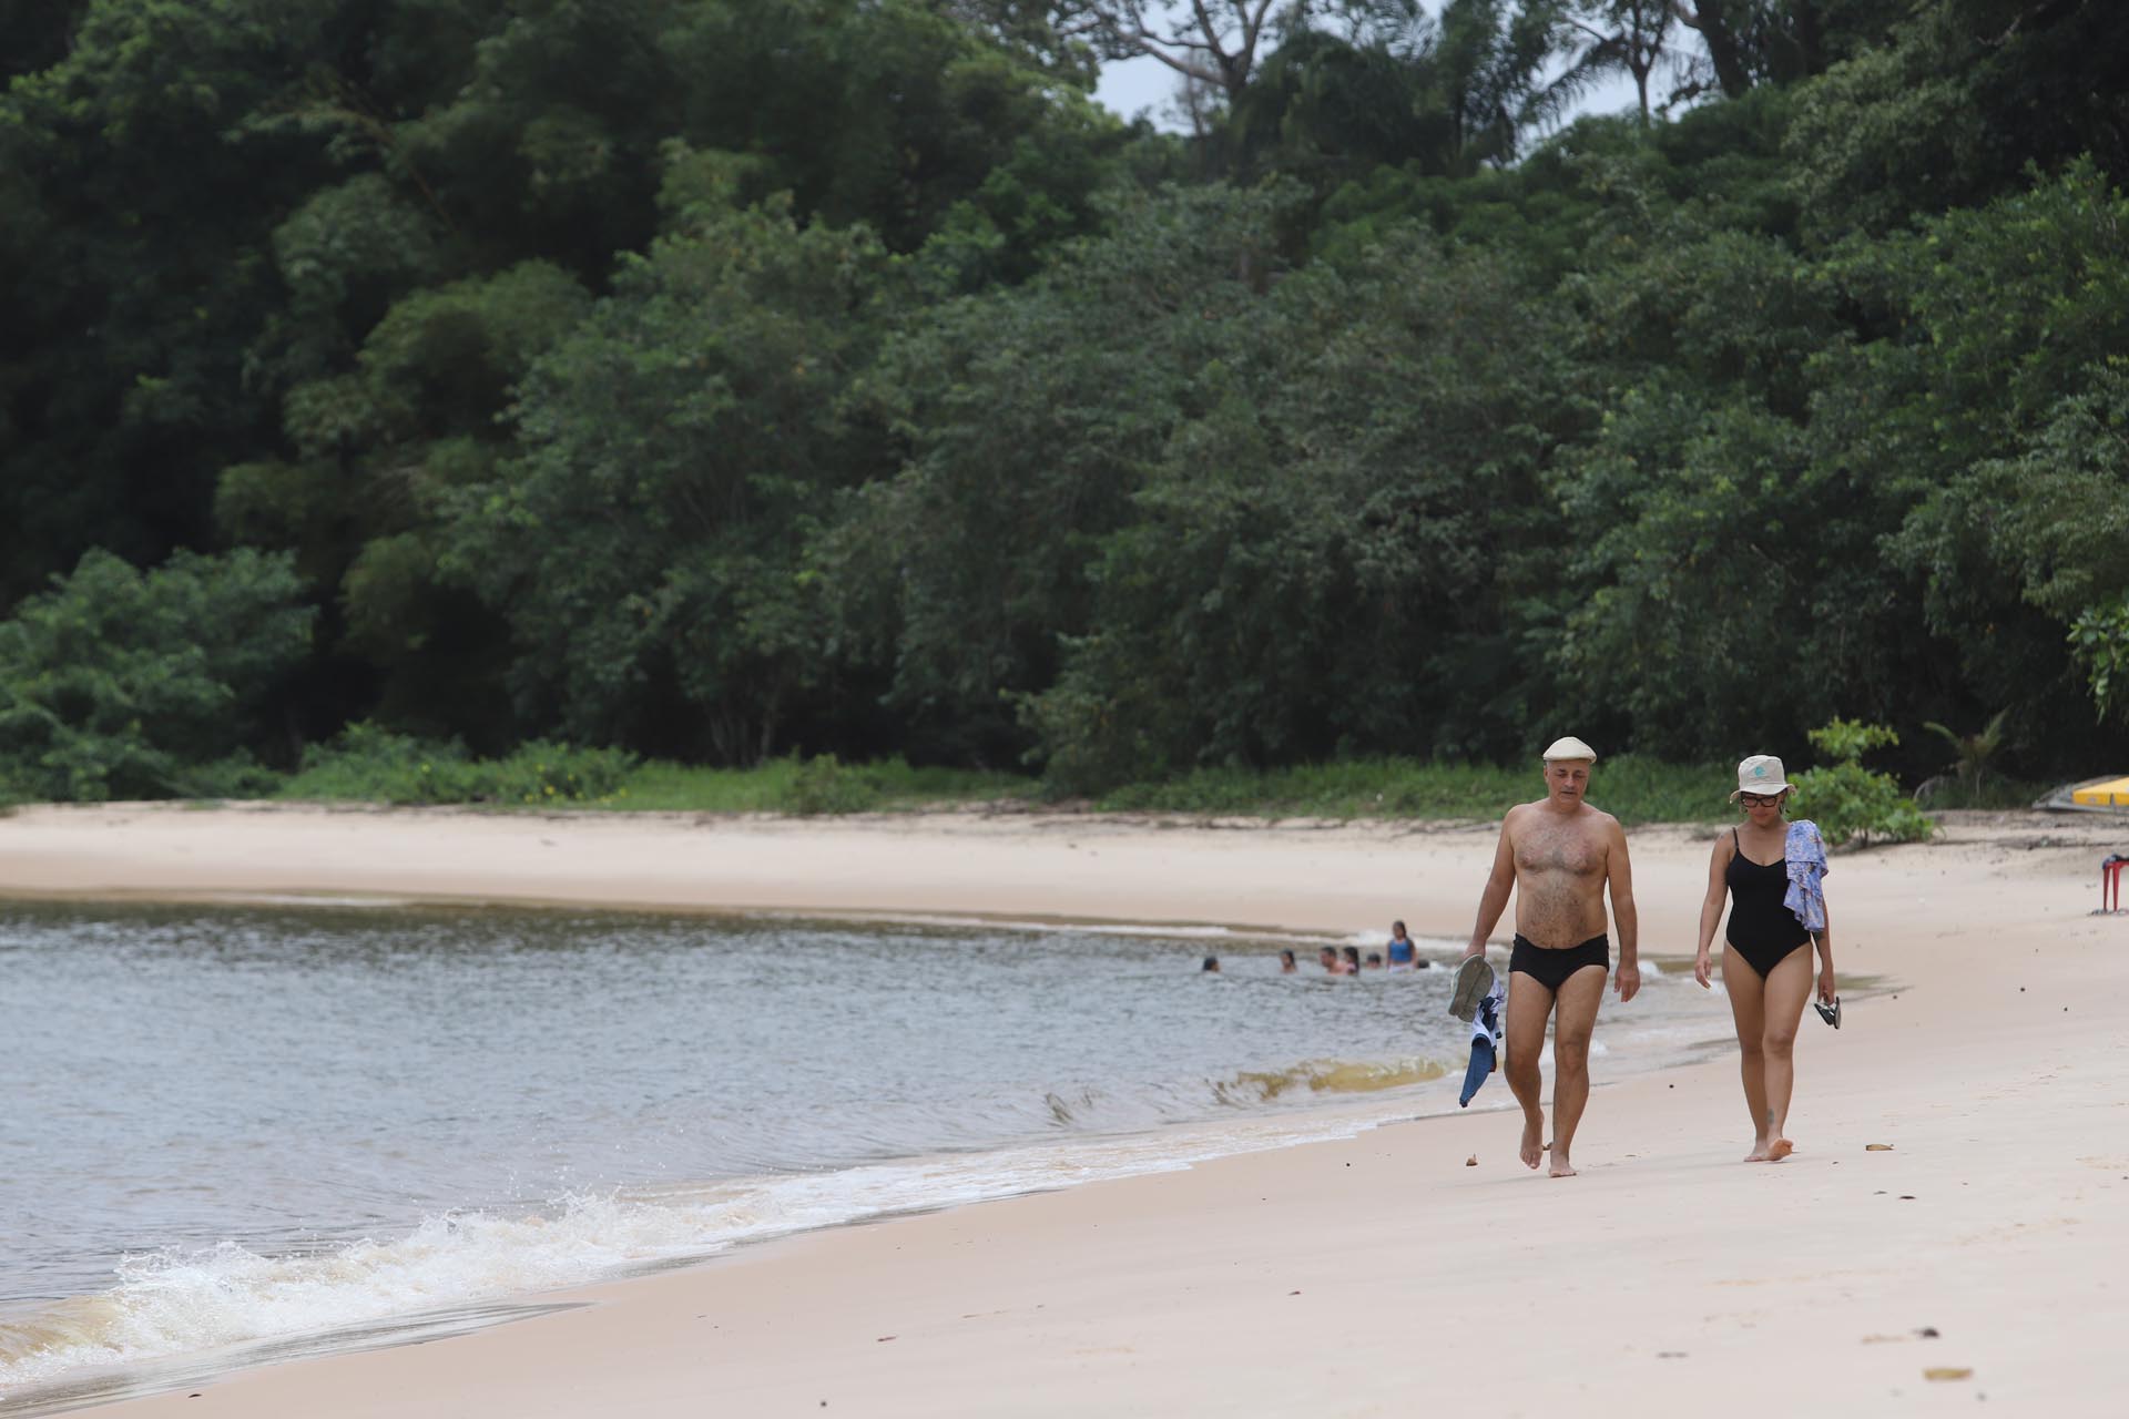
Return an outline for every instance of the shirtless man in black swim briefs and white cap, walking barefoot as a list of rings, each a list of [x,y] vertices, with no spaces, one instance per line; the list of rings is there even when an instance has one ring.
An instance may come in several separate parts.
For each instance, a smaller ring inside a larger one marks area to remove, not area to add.
[[[1597,751],[1567,736],[1546,749],[1546,796],[1516,804],[1501,819],[1501,847],[1492,874],[1478,900],[1478,925],[1465,957],[1486,951],[1486,936],[1516,889],[1516,949],[1507,970],[1507,1087],[1522,1104],[1522,1162],[1535,1168],[1546,1155],[1546,1113],[1539,1106],[1544,1081],[1537,1053],[1552,1025],[1552,1176],[1571,1179],[1567,1162],[1590,1096],[1590,1032],[1603,1002],[1603,976],[1612,966],[1605,940],[1603,889],[1612,885],[1612,919],[1618,923],[1618,998],[1624,1004],[1641,989],[1639,919],[1633,913],[1633,870],[1627,866],[1627,832],[1610,813],[1588,806],[1590,764]]]

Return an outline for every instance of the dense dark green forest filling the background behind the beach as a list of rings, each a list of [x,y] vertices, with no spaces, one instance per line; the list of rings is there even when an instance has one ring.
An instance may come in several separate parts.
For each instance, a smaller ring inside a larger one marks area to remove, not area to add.
[[[0,0],[0,796],[2118,768],[2129,6],[1135,11]]]

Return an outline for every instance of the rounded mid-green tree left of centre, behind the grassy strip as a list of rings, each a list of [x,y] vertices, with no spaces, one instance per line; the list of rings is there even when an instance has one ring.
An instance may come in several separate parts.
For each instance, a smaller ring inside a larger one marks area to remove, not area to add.
[[[456,496],[449,566],[509,619],[530,723],[754,764],[830,672],[801,549],[873,470],[843,400],[886,253],[788,200],[673,221],[526,377],[522,455]]]

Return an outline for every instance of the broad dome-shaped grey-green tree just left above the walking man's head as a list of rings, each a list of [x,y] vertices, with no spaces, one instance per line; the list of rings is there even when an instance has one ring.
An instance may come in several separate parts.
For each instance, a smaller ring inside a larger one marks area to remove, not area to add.
[[[1518,296],[1407,232],[1231,321],[1103,540],[1088,630],[1026,702],[1060,785],[1492,755],[1546,715],[1516,657],[1520,545],[1561,540],[1539,472],[1582,406]]]

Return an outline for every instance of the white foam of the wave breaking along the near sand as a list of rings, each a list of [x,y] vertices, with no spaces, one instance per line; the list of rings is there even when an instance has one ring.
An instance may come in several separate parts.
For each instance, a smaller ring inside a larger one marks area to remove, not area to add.
[[[85,1368],[609,1281],[747,1240],[869,1217],[1350,1138],[1386,1117],[1403,1115],[1322,1111],[818,1174],[568,1196],[524,1215],[428,1217],[405,1236],[362,1238],[315,1255],[260,1255],[224,1242],[207,1251],[128,1257],[119,1285],[109,1291],[0,1319],[0,1396]]]

